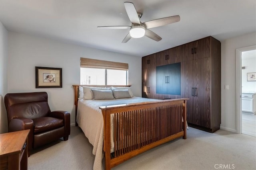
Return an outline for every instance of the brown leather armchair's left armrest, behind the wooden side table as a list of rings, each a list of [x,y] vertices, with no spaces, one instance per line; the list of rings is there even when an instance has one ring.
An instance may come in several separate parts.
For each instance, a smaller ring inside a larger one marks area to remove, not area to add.
[[[28,156],[30,156],[30,150],[32,149],[33,141],[34,141],[34,122],[32,119],[28,118],[14,118],[10,121],[8,132],[14,132],[14,131],[22,131],[30,129],[30,132],[28,134]]]

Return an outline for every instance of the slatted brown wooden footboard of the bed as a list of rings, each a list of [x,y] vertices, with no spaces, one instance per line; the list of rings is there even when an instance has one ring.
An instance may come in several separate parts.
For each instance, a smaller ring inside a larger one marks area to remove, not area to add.
[[[109,170],[178,137],[186,139],[187,100],[182,98],[100,107],[104,119],[105,169]],[[114,138],[112,153],[111,133]]]

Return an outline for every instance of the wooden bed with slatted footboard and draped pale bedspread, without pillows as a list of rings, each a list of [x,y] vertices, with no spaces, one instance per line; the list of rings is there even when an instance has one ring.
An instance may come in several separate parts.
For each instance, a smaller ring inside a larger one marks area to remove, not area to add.
[[[81,86],[85,85],[73,85],[76,125],[93,145],[94,169],[102,169],[103,156],[109,170],[162,143],[186,139],[183,120],[188,99],[155,100],[131,94],[131,98],[84,100],[79,97]]]

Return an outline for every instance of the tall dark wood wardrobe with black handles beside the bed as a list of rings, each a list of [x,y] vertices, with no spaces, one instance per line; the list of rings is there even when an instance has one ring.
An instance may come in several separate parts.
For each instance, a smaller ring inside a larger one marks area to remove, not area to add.
[[[189,98],[188,125],[213,133],[221,123],[220,56],[220,41],[210,36],[142,57],[142,97]],[[157,94],[156,68],[173,63],[180,63],[180,95]]]

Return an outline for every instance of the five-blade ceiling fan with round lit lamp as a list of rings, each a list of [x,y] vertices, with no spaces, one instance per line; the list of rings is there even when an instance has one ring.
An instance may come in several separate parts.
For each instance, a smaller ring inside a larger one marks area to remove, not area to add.
[[[132,22],[131,26],[99,26],[98,28],[103,29],[130,29],[128,35],[124,38],[122,43],[126,43],[131,38],[140,38],[144,35],[153,39],[155,41],[160,41],[162,38],[156,33],[150,31],[148,28],[160,27],[170,23],[180,21],[180,16],[170,16],[166,18],[159,18],[156,20],[146,21],[144,23],[140,22],[142,16],[141,12],[137,12],[135,6],[132,2],[124,2],[124,7],[126,9],[127,15]]]

